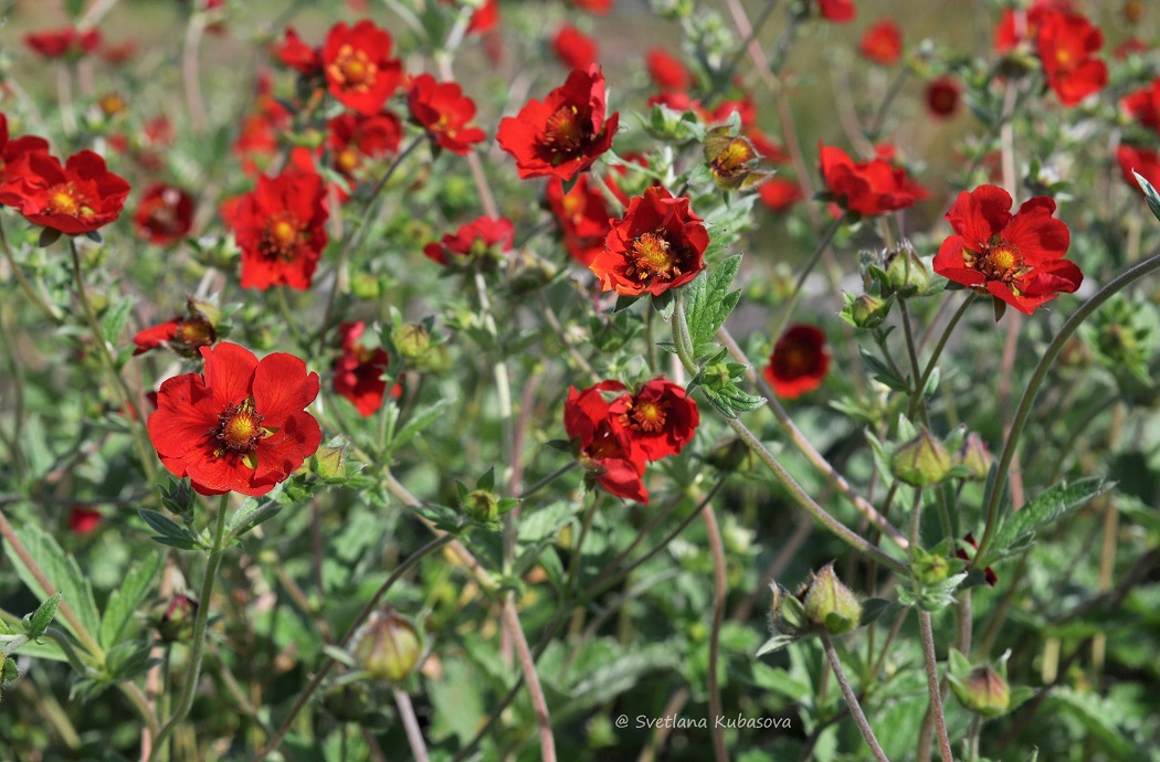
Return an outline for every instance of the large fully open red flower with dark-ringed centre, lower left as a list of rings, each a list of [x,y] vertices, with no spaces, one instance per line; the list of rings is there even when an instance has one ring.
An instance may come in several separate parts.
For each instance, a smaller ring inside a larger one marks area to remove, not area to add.
[[[283,353],[259,361],[233,343],[202,347],[205,373],[169,378],[148,435],[161,463],[203,495],[263,495],[318,450],[322,431],[305,407],[318,373]]]

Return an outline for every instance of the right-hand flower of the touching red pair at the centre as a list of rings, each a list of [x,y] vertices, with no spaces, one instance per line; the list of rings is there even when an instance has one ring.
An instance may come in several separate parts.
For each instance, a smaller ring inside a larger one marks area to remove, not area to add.
[[[625,431],[633,455],[660,460],[676,455],[693,440],[701,413],[684,389],[654,378],[636,394],[624,394],[608,409],[615,427]]]

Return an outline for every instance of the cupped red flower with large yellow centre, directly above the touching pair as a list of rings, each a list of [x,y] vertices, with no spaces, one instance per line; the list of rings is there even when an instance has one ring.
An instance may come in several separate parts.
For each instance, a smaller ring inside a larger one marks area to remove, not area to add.
[[[705,269],[709,231],[686,197],[652,186],[629,202],[624,217],[612,223],[604,251],[589,269],[603,291],[621,296],[660,296],[684,285]]]

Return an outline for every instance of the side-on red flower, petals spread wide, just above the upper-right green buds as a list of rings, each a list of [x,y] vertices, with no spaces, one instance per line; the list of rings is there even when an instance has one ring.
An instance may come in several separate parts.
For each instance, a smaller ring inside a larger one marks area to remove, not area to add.
[[[906,176],[906,170],[884,159],[855,164],[841,150],[820,143],[821,174],[829,193],[844,209],[860,215],[882,215],[906,209],[927,197],[927,189]]]

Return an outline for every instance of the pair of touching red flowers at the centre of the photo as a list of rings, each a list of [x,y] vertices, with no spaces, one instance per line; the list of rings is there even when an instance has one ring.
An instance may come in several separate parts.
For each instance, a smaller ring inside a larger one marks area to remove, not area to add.
[[[679,453],[693,440],[697,404],[673,382],[654,378],[632,394],[617,380],[568,390],[564,430],[596,484],[621,498],[648,502],[645,464]]]

